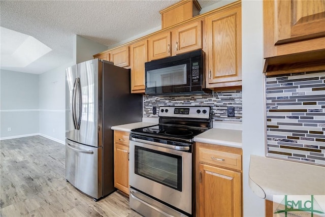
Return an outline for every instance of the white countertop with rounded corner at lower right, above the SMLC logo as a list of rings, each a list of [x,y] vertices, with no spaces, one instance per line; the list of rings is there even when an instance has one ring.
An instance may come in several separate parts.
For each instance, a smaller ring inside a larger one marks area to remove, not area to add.
[[[250,156],[249,187],[259,197],[325,195],[325,167]]]

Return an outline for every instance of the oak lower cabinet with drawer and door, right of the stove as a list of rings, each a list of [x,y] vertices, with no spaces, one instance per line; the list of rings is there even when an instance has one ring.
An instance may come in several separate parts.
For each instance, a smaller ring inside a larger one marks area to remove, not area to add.
[[[197,142],[196,151],[197,216],[242,216],[242,149]]]

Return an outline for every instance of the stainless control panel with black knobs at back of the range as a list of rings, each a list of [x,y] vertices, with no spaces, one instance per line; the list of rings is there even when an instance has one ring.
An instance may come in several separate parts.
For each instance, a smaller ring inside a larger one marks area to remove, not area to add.
[[[187,118],[203,118],[210,117],[209,106],[160,106],[159,117],[187,117]]]

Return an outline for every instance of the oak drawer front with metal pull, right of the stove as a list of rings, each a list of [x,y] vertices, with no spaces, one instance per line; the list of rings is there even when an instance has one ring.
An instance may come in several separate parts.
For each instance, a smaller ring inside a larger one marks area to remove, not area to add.
[[[242,169],[242,157],[240,154],[199,148],[199,161],[231,169]]]

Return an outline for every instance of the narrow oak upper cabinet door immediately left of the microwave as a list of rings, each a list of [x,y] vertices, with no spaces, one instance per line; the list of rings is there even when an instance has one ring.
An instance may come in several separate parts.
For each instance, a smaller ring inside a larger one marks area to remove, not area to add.
[[[145,92],[145,67],[148,61],[148,41],[131,45],[131,92]]]

